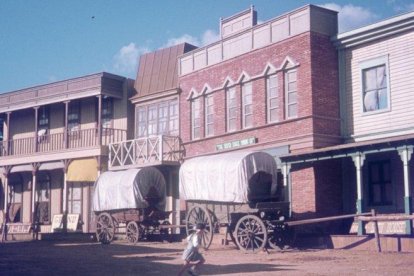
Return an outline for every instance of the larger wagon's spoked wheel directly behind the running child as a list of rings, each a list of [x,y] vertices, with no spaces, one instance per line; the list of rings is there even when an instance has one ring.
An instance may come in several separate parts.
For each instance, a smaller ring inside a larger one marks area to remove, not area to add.
[[[214,228],[209,212],[202,206],[193,206],[190,211],[188,211],[185,225],[187,235],[195,232],[195,226],[197,223],[204,224],[201,245],[204,247],[204,249],[208,249],[211,241],[213,240]]]

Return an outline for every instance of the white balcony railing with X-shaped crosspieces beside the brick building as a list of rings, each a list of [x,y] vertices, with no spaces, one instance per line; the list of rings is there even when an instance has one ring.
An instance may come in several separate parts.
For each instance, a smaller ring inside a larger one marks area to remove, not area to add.
[[[179,163],[181,140],[175,136],[151,136],[109,144],[109,169]]]

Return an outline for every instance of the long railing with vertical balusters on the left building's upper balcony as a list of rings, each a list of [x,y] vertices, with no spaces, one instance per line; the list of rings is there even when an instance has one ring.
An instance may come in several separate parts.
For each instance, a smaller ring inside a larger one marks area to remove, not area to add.
[[[65,137],[67,136],[67,138]],[[126,139],[126,131],[104,128],[101,134],[101,145],[109,145]],[[97,128],[37,135],[36,137],[12,139],[0,142],[0,156],[30,155],[62,150],[73,150],[99,146]]]

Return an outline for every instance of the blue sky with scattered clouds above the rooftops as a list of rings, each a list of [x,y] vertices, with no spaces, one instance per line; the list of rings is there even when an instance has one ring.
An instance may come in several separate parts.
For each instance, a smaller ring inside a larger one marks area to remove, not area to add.
[[[414,0],[0,0],[0,93],[102,71],[135,78],[142,53],[218,38],[220,17],[259,22],[306,4],[339,11],[340,31],[414,10]]]

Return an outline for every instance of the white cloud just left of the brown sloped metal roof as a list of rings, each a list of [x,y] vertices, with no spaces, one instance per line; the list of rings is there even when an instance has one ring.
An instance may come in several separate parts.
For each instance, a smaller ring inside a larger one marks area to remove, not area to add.
[[[149,51],[150,50],[146,47],[137,47],[133,42],[123,46],[113,58],[114,70],[121,74],[135,73],[139,56],[148,53]]]

